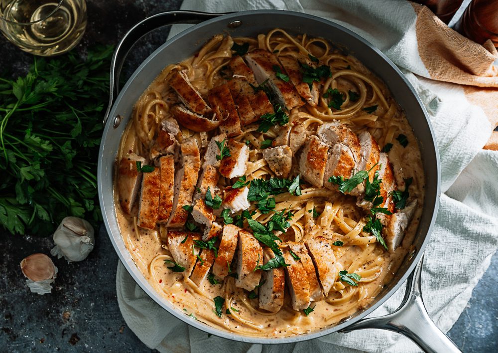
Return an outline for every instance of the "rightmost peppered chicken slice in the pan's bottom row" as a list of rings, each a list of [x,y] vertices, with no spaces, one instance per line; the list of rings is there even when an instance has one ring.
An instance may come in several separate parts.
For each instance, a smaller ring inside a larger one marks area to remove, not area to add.
[[[306,247],[318,272],[318,279],[322,285],[323,293],[327,296],[336,281],[338,273],[336,256],[332,250],[332,240],[317,236],[308,239]]]

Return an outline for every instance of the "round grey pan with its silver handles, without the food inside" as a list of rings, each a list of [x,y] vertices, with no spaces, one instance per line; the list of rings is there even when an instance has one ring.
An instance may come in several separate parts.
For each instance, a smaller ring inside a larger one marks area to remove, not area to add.
[[[149,31],[175,23],[197,23],[197,25],[166,41],[154,51],[138,67],[119,92],[119,74],[124,58],[133,44]],[[299,336],[270,339],[228,333],[202,322],[189,320],[183,312],[162,298],[148,284],[126,250],[118,228],[113,197],[113,167],[120,139],[131,116],[134,102],[167,64],[179,62],[194,54],[215,34],[228,32],[232,36],[256,36],[258,33],[265,33],[275,27],[284,28],[291,33],[307,33],[310,36],[324,37],[330,40],[341,50],[355,55],[387,84],[396,101],[406,111],[407,118],[420,144],[426,173],[426,197],[424,211],[413,244],[414,251],[407,256],[393,280],[384,287],[372,305],[348,319],[322,330]],[[410,83],[387,57],[362,37],[328,20],[291,11],[255,10],[228,14],[193,11],[158,13],[144,19],[130,29],[116,48],[111,67],[110,102],[104,122],[105,129],[98,166],[99,197],[104,223],[126,270],[145,293],[171,315],[207,333],[241,342],[295,343],[333,332],[378,328],[399,332],[427,352],[459,352],[427,315],[420,292],[421,259],[436,219],[440,197],[441,170],[434,132],[427,112]],[[417,264],[419,265],[414,271]],[[405,280],[407,280],[405,299],[395,313],[380,318],[364,319],[385,302]],[[366,349],[368,350],[368,347]]]

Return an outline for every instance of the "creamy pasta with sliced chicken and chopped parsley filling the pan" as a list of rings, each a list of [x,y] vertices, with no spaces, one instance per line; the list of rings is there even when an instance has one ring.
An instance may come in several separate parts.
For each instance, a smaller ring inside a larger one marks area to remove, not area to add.
[[[135,103],[116,214],[189,319],[286,337],[372,303],[411,249],[424,179],[404,112],[355,57],[282,29],[219,34]]]

